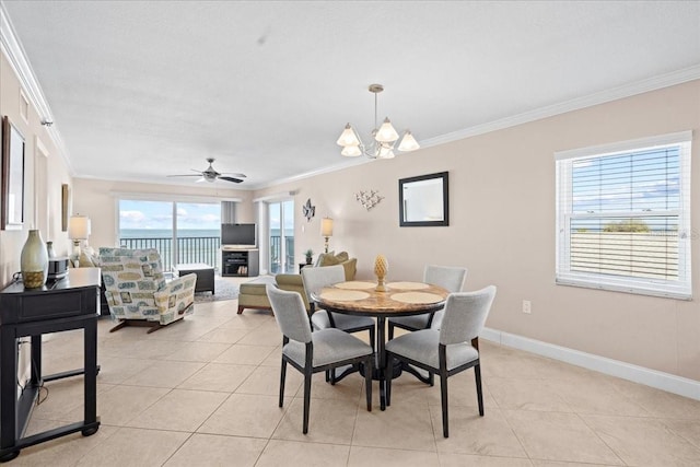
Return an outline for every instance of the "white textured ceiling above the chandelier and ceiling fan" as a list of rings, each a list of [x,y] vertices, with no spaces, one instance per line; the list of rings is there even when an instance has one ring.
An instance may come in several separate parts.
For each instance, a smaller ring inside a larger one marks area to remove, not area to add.
[[[430,144],[700,66],[697,1],[2,7],[90,178],[188,184],[166,175],[215,157],[255,188],[347,164],[335,141],[369,135],[375,82],[380,118]]]

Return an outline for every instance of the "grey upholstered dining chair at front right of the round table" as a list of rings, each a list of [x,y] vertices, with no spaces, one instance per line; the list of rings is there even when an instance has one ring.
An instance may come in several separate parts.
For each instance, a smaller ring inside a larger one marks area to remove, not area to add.
[[[440,375],[443,436],[450,436],[447,417],[447,378],[474,367],[479,416],[483,417],[481,366],[478,336],[495,297],[495,287],[476,292],[456,292],[447,296],[443,326],[421,329],[399,336],[386,343],[386,405],[392,404],[392,371],[394,359]]]

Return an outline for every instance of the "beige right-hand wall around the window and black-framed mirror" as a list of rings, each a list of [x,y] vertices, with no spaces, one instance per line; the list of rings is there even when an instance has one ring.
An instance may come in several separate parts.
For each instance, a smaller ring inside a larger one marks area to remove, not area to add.
[[[489,327],[700,381],[700,243],[696,300],[677,301],[555,285],[555,151],[693,130],[692,206],[700,206],[700,81],[420,150],[256,192],[298,190],[295,255],[320,252],[320,219],[335,219],[331,248],[355,255],[372,277],[376,254],[389,280],[419,279],[427,262],[469,269],[466,289],[498,285]],[[328,154],[328,157],[340,157]],[[399,227],[398,179],[450,172],[450,226]],[[366,211],[359,190],[385,197]],[[316,217],[301,206],[311,198]],[[698,212],[693,209],[693,212]],[[303,229],[303,231],[302,231]],[[700,217],[692,218],[700,232]],[[522,301],[532,301],[532,314]]]

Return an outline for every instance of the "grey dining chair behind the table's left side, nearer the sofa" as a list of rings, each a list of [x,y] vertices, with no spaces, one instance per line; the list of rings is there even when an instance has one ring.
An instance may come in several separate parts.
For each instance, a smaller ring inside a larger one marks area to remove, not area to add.
[[[370,345],[374,349],[374,319],[369,316],[351,316],[340,313],[329,313],[326,310],[316,310],[312,293],[318,293],[324,287],[338,282],[345,282],[346,272],[341,265],[320,266],[302,269],[304,290],[311,306],[311,324],[314,329],[338,328],[346,332],[370,332]]]

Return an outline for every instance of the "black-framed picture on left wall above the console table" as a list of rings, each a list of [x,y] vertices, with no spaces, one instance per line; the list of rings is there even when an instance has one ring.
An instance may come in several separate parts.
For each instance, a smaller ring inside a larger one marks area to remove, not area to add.
[[[20,230],[24,224],[24,137],[2,118],[2,179],[0,229]]]

